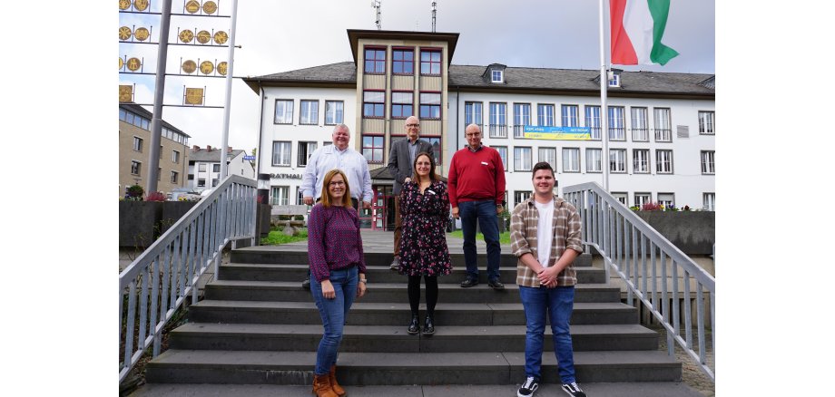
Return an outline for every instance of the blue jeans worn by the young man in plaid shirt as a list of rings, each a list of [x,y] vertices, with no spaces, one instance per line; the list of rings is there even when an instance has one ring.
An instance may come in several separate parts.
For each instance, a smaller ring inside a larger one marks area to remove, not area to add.
[[[519,286],[519,296],[525,307],[527,333],[525,337],[525,375],[542,379],[543,338],[545,334],[545,313],[551,318],[551,332],[554,334],[554,353],[560,378],[563,383],[576,382],[574,349],[568,322],[574,309],[574,286]]]

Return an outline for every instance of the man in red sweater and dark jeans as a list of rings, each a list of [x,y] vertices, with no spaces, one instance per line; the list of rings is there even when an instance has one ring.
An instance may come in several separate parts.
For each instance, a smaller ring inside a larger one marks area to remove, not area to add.
[[[478,284],[476,264],[476,219],[487,244],[487,281],[495,290],[505,289],[499,280],[498,265],[502,248],[498,243],[498,214],[505,208],[505,167],[493,148],[481,144],[481,128],[467,125],[467,148],[458,150],[449,161],[448,194],[452,216],[461,218],[464,232],[464,261],[467,278],[461,286]]]

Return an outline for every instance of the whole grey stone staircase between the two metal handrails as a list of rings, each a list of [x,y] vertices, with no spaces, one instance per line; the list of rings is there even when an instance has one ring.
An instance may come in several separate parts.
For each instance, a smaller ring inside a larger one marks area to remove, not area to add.
[[[309,291],[300,286],[308,269],[305,248],[232,251],[231,263],[221,266],[217,280],[205,286],[201,302],[189,308],[189,324],[175,329],[169,350],[147,364],[148,386],[158,391],[153,394],[163,395],[159,391],[165,384],[172,385],[166,390],[177,390],[173,386],[180,383],[311,384],[322,327]],[[514,283],[516,258],[503,251],[505,291],[486,285],[483,268],[478,286],[461,288],[463,254],[453,253],[452,258],[453,274],[438,278],[437,332],[424,337],[406,333],[406,277],[388,269],[391,254],[366,253],[368,294],[355,301],[349,313],[339,353],[339,382],[501,385],[496,395],[516,392],[525,377],[525,315]],[[483,255],[479,263],[484,266]],[[588,255],[579,257],[575,266],[580,284],[572,336],[577,379],[586,392],[594,389],[586,386],[589,383],[630,382],[632,389],[615,388],[611,395],[628,395],[622,392],[633,389],[634,395],[642,395],[641,384],[653,395],[699,395],[678,383],[681,363],[657,351],[658,334],[639,324],[634,307],[620,302],[620,290],[605,284],[604,270],[591,266]],[[422,311],[423,305],[421,319]],[[546,330],[543,382],[559,383],[549,335]],[[309,386],[294,387],[285,392],[309,393]],[[549,389],[559,391],[558,385]]]

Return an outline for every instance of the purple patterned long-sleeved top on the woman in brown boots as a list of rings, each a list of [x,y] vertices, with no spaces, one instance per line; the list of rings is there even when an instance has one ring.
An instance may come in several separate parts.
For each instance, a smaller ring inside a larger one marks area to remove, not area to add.
[[[313,206],[308,219],[308,256],[310,271],[321,283],[330,278],[330,270],[357,265],[365,273],[359,217],[354,208]]]

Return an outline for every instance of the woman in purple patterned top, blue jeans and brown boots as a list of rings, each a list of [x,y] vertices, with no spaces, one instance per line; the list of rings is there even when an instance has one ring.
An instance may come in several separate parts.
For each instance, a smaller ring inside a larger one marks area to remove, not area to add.
[[[308,219],[310,293],[325,328],[316,352],[313,392],[318,397],[341,397],[336,380],[342,329],[354,297],[366,292],[366,266],[359,236],[359,216],[352,208],[345,174],[331,169],[322,183],[321,202]]]

